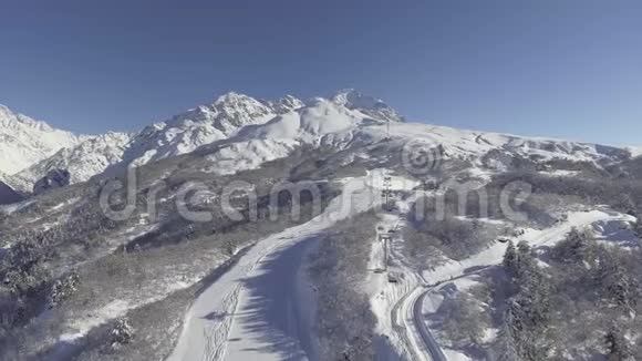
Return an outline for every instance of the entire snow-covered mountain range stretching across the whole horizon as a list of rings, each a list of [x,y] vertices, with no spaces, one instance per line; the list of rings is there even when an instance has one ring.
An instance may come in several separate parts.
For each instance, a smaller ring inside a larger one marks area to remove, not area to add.
[[[76,136],[0,107],[0,172],[4,172],[0,180],[30,192],[54,169],[69,171],[71,183],[79,183],[105,169],[139,166],[200,147],[214,173],[229,174],[286,157],[301,145],[345,149],[389,138],[397,148],[423,141],[439,145],[446,157],[497,167],[506,166],[497,159],[511,155],[601,162],[631,154],[596,144],[407,123],[382,100],[354,90],[306,102],[291,95],[269,101],[231,92],[136,134]]]

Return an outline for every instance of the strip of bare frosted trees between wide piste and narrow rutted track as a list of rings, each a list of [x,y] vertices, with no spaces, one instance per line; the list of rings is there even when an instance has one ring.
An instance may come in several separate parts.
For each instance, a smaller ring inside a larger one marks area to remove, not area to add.
[[[376,318],[361,285],[377,220],[376,213],[366,212],[339,221],[312,256],[321,360],[374,359]]]

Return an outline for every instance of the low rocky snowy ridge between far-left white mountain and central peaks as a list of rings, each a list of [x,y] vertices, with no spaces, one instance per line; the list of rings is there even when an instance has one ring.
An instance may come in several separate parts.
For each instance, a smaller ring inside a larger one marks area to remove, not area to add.
[[[91,136],[74,147],[62,148],[51,157],[33,164],[18,176],[33,185],[50,171],[66,169],[71,173],[71,183],[84,182],[123,161],[123,153],[131,138],[132,135],[126,133]]]

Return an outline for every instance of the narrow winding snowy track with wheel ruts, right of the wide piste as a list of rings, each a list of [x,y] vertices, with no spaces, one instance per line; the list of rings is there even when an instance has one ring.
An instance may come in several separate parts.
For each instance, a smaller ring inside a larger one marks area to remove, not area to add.
[[[400,203],[400,207],[407,207],[408,202]],[[573,227],[591,228],[604,239],[609,237],[620,239],[628,237],[630,230],[623,225],[632,220],[630,216],[604,210],[577,212],[570,213],[568,220],[548,229],[527,229],[519,239],[527,240],[534,248],[550,246],[561,240]],[[400,213],[393,213],[384,215],[379,226],[385,233],[400,223],[403,223],[403,219],[400,219]],[[459,262],[451,261],[420,274],[406,265],[404,257],[397,250],[401,243],[403,239],[396,235],[390,245],[387,271],[403,275],[403,277],[397,282],[391,283],[386,272],[373,272],[367,280],[372,295],[372,310],[379,321],[376,332],[384,337],[386,344],[396,349],[396,354],[405,359],[472,360],[459,350],[442,347],[432,334],[426,316],[437,312],[444,300],[445,288],[454,285],[458,290],[466,290],[475,285],[472,277],[479,270],[500,264],[506,251],[506,244],[496,243],[468,259]],[[380,249],[382,247],[382,245],[373,245],[370,266],[373,270],[384,264],[380,259],[384,254]],[[379,352],[381,355],[386,350],[380,347]]]

